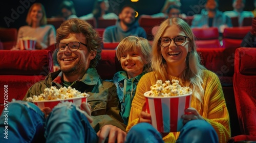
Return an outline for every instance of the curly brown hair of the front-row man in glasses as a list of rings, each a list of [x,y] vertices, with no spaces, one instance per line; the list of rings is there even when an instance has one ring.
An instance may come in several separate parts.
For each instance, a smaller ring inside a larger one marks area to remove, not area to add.
[[[101,59],[101,39],[96,30],[86,21],[72,18],[64,21],[56,31],[56,42],[59,43],[61,39],[65,39],[70,33],[82,33],[86,36],[87,48],[89,52],[96,51],[96,57],[91,60],[90,67],[96,67]]]

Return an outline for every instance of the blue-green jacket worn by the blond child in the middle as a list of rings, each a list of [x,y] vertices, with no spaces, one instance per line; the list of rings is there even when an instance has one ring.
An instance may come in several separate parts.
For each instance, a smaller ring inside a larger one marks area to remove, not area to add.
[[[144,74],[145,73],[141,73],[134,78],[128,79],[126,71],[118,71],[113,77],[113,82],[117,87],[117,96],[121,105],[120,114],[125,125],[127,125],[129,121],[132,101],[135,96],[138,82]]]

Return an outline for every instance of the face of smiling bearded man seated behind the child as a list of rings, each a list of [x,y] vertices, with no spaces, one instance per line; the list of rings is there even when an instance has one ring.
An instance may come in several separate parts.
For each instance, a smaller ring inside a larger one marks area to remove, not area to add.
[[[119,19],[125,24],[130,25],[135,20],[135,10],[130,7],[125,7],[119,14]]]

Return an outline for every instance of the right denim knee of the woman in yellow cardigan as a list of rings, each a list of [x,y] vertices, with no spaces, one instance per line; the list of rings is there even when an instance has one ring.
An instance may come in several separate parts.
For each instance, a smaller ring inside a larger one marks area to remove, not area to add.
[[[204,120],[187,122],[180,131],[177,142],[219,142],[215,129]]]

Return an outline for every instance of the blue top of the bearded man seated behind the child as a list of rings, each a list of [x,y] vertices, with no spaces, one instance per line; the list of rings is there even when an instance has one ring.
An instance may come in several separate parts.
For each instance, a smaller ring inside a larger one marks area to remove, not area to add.
[[[107,27],[103,33],[103,42],[121,42],[122,39],[128,36],[137,36],[146,38],[145,30],[139,26],[138,21],[126,31],[120,26],[120,20],[117,20],[115,26]]]

